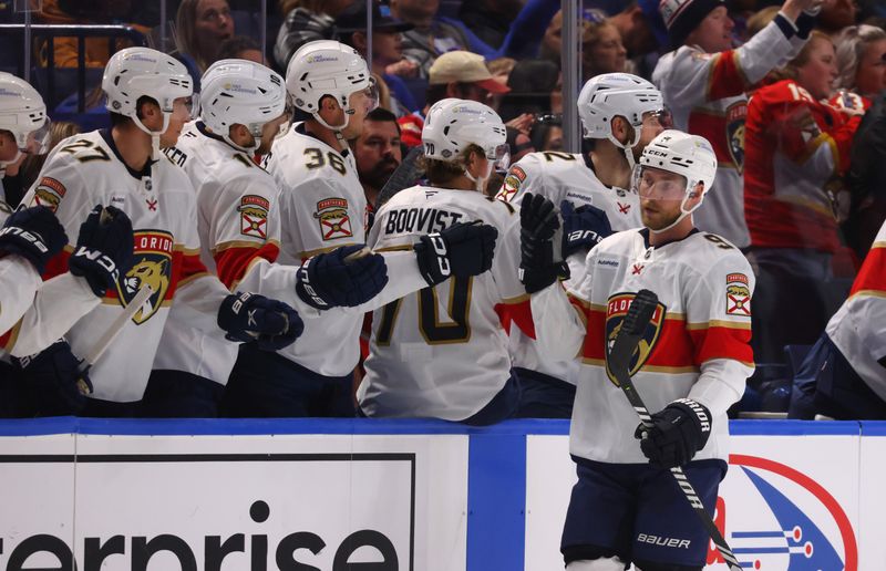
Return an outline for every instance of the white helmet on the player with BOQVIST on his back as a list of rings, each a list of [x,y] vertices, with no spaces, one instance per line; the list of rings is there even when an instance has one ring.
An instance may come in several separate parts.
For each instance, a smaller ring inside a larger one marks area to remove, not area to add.
[[[507,168],[507,129],[502,117],[475,101],[449,97],[430,108],[424,120],[424,156],[452,163],[470,145],[483,149],[501,170]]]

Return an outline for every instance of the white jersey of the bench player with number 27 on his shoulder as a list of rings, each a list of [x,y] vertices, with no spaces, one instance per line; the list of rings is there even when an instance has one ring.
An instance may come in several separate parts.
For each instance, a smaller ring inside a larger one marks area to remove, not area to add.
[[[95,205],[115,206],[132,220],[133,268],[68,332],[74,354],[86,355],[140,289],[152,287],[154,293],[90,371],[95,397],[142,398],[173,300],[189,310],[195,326],[224,334],[216,313],[227,291],[199,261],[194,190],[165,157],[136,173],[121,158],[110,132],[75,135],[52,150],[23,204],[52,208],[70,240],[50,261],[47,277],[66,271],[80,225]],[[63,305],[60,301],[58,311],[65,311]],[[18,354],[14,346],[12,353]]]

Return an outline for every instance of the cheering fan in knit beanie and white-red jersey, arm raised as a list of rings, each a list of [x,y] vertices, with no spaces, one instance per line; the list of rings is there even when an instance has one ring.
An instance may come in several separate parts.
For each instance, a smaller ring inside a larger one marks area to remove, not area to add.
[[[672,52],[652,72],[673,113],[674,128],[705,137],[717,153],[718,190],[696,224],[739,248],[750,245],[744,224],[744,94],[771,70],[791,61],[808,40],[821,0],[786,0],[775,19],[748,43],[732,48],[733,22],[723,0],[662,0]]]

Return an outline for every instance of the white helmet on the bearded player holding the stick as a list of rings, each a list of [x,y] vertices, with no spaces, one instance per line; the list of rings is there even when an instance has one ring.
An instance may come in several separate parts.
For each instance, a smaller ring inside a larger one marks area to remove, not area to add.
[[[650,167],[680,175],[683,184],[676,189],[669,189],[667,186],[649,188],[645,184],[643,172]],[[653,138],[640,155],[640,163],[633,168],[633,189],[641,198],[681,199],[680,210],[682,214],[673,224],[658,230],[663,231],[673,228],[701,206],[715,176],[717,155],[707,138],[667,129]],[[699,184],[702,185],[701,200],[687,210],[686,204],[690,198],[696,197],[696,187]]]

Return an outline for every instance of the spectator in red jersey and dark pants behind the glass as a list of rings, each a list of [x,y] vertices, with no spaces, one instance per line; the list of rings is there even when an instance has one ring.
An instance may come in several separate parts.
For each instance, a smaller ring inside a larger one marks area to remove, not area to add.
[[[782,360],[783,346],[811,344],[842,299],[827,299],[839,191],[858,116],[826,103],[837,68],[831,39],[814,32],[783,70],[787,79],[758,90],[744,131],[748,258],[758,276],[754,357]],[[759,323],[759,326],[758,326]]]

